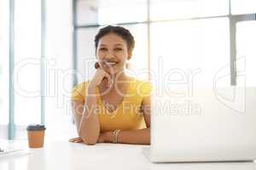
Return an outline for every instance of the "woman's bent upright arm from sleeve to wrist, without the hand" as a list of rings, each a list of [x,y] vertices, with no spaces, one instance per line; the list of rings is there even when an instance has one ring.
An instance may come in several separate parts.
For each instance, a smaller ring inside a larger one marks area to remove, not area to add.
[[[85,144],[96,144],[100,135],[100,123],[96,114],[96,88],[88,86],[85,103],[73,101],[73,115],[79,137]]]

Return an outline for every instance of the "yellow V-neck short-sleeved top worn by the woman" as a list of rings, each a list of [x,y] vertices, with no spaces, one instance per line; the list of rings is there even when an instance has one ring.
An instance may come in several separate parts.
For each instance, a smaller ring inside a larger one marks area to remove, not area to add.
[[[73,88],[72,100],[84,102],[88,82],[82,82]],[[133,78],[129,81],[129,87],[124,99],[119,106],[111,112],[102,104],[99,89],[96,88],[97,113],[101,132],[120,130],[136,130],[146,127],[143,112],[140,111],[144,98],[150,98],[151,85],[147,81]]]

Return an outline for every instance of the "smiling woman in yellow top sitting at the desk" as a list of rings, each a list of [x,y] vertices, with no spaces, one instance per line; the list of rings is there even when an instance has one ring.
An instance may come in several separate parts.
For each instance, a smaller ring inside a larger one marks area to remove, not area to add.
[[[121,26],[97,33],[96,74],[73,88],[79,138],[69,141],[150,144],[150,83],[125,74],[134,44],[131,32]]]

